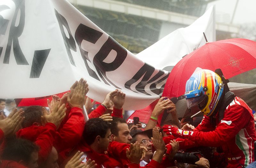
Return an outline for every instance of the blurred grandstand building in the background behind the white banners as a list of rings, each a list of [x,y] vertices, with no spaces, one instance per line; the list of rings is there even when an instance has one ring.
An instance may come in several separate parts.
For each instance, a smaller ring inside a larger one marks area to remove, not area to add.
[[[135,54],[174,30],[192,24],[212,1],[69,0],[93,23]],[[238,32],[238,26],[216,21],[216,40],[229,39],[231,34]]]

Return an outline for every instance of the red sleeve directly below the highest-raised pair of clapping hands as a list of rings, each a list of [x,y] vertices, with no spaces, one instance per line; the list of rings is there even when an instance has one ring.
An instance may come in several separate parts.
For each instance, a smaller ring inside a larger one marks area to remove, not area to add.
[[[73,148],[80,142],[84,131],[84,114],[81,108],[73,107],[69,113],[68,121],[57,132],[54,146],[57,151]]]

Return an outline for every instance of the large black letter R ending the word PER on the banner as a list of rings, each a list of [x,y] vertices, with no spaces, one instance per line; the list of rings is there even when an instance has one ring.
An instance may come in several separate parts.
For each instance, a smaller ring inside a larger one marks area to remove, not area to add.
[[[111,50],[115,50],[117,53],[115,60],[111,63],[103,62],[103,60],[107,58]],[[120,67],[120,65],[122,65],[126,57],[127,50],[119,43],[117,43],[116,40],[109,36],[108,40],[103,44],[103,46],[100,48],[100,51],[93,58],[93,64],[98,74],[100,75],[100,78],[105,82],[105,84],[109,85],[109,82],[111,83],[111,85],[115,86],[116,88],[119,88],[108,79],[108,77],[106,76],[106,72],[116,70],[118,67]]]

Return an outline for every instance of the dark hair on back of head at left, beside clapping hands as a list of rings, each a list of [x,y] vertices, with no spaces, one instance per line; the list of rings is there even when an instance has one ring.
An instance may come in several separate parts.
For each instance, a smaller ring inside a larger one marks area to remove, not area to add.
[[[23,128],[33,125],[34,122],[41,123],[41,116],[43,115],[42,106],[29,106],[24,109],[25,120],[21,123]]]

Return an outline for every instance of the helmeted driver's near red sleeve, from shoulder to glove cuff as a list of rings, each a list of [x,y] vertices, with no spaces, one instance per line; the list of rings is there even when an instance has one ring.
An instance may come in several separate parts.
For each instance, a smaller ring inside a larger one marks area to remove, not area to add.
[[[230,108],[225,110],[224,118],[215,130],[209,132],[195,131],[188,138],[204,146],[218,147],[236,136],[248,121],[250,121],[251,117],[246,108],[242,106],[230,106]]]

